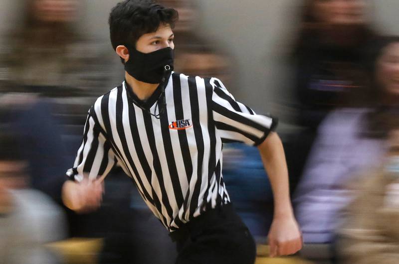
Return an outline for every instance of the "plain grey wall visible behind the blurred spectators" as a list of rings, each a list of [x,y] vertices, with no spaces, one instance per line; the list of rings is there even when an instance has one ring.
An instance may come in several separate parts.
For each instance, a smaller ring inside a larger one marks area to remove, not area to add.
[[[234,69],[242,71],[231,85],[231,93],[258,112],[270,111],[276,91],[289,83],[282,54],[289,52],[300,20],[301,0],[192,0],[198,8],[194,29],[234,58]],[[108,14],[118,0],[79,0],[78,28],[108,45]],[[399,34],[396,0],[370,0],[375,26],[388,34]],[[0,29],[12,30],[20,22],[22,0],[1,0]],[[248,27],[250,26],[250,30]],[[251,50],[251,52],[247,52]],[[122,69],[122,65],[119,65]],[[118,72],[118,71],[117,71]],[[282,83],[282,81],[286,83]],[[245,87],[241,88],[240,87]],[[247,89],[250,87],[250,93]]]

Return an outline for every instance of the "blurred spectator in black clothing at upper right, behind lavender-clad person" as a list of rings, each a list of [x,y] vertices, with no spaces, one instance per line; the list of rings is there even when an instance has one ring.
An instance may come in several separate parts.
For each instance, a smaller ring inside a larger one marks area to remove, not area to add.
[[[361,104],[369,87],[365,51],[375,38],[369,0],[306,0],[291,57],[293,122],[300,132],[286,142],[294,189],[317,127],[336,107]]]

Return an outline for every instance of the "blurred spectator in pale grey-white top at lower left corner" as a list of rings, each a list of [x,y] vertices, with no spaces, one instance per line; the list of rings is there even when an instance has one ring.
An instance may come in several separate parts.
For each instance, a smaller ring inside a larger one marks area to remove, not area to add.
[[[0,263],[57,264],[45,243],[65,238],[65,219],[51,199],[29,189],[27,164],[17,141],[0,134]]]

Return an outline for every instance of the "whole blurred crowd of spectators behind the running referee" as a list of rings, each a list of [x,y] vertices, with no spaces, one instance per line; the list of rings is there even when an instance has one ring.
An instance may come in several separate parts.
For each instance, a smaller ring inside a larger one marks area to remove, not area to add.
[[[120,168],[107,177],[99,210],[77,214],[62,204],[87,110],[123,70],[110,43],[80,31],[81,1],[20,1],[21,22],[0,35],[0,263],[173,264],[175,246]],[[175,71],[228,88],[234,54],[198,34],[198,1],[159,2],[180,16]],[[297,258],[397,263],[399,37],[378,32],[372,1],[301,2],[295,41],[281,58],[294,80],[282,121],[295,130],[282,138],[305,243]],[[223,153],[233,205],[265,243],[273,196],[258,151],[234,143]]]

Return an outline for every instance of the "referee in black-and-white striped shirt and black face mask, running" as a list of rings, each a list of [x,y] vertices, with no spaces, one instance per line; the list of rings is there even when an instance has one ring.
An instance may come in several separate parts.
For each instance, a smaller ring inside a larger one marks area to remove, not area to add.
[[[253,264],[255,243],[223,182],[222,145],[256,145],[275,198],[270,255],[297,252],[302,240],[276,120],[235,101],[216,78],[173,72],[177,19],[175,9],[153,0],[112,9],[110,37],[125,80],[90,108],[67,175],[98,184],[121,166],[177,242],[177,264]]]

